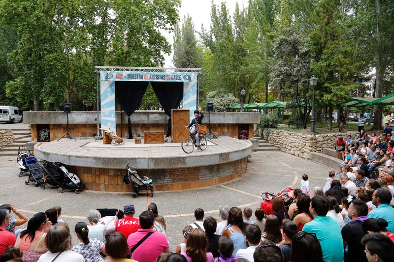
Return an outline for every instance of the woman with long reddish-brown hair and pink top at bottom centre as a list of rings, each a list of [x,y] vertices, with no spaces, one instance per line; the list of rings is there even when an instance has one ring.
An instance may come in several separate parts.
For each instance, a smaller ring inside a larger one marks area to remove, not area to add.
[[[186,250],[181,255],[188,262],[214,262],[213,255],[208,250],[208,241],[201,229],[193,230],[186,239]]]

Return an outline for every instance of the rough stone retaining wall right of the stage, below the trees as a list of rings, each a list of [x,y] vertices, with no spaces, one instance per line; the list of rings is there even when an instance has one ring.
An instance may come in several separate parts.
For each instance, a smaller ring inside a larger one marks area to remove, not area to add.
[[[303,157],[310,158],[310,152],[321,153],[323,148],[334,148],[335,139],[351,135],[353,140],[358,138],[358,132],[348,131],[346,133],[330,133],[320,135],[307,135],[296,132],[266,128],[263,131],[264,139],[282,151]]]

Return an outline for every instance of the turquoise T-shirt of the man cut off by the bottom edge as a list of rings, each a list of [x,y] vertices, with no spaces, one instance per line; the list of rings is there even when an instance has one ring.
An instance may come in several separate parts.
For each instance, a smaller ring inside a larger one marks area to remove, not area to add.
[[[302,231],[316,234],[324,261],[343,262],[343,239],[338,222],[328,216],[317,216],[306,223]]]

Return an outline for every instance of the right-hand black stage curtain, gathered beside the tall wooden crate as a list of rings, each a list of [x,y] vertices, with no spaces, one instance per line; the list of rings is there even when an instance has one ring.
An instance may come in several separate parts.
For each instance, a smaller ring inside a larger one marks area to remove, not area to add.
[[[151,85],[165,114],[169,116],[166,136],[171,136],[171,109],[176,109],[181,104],[183,98],[183,82],[151,82]]]

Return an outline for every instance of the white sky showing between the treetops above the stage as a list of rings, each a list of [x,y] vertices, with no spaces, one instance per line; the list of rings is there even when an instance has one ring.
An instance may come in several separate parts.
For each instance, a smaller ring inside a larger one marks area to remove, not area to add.
[[[192,17],[195,30],[200,31],[201,24],[205,29],[209,30],[211,24],[212,1],[216,5],[220,5],[221,2],[226,2],[226,6],[229,9],[229,14],[231,16],[234,13],[236,2],[238,2],[241,9],[248,6],[248,0],[182,0],[182,5],[178,9],[180,20],[182,21],[183,17],[189,14]],[[169,32],[163,32],[163,34],[172,45],[174,42],[174,34]],[[174,64],[172,62],[172,57],[173,52],[169,56],[164,55],[165,67],[173,67]]]

